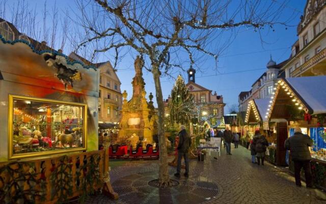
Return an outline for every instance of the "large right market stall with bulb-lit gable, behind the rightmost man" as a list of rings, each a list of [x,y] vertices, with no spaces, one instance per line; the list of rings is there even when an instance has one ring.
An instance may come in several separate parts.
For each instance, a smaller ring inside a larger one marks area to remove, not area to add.
[[[275,97],[271,102],[270,111],[265,117],[278,119],[277,151],[280,165],[289,163],[293,171],[291,156],[287,157],[284,141],[294,134],[295,127],[301,127],[314,141],[310,147],[314,183],[326,187],[326,76],[285,78],[278,82]],[[279,142],[280,141],[280,142]]]

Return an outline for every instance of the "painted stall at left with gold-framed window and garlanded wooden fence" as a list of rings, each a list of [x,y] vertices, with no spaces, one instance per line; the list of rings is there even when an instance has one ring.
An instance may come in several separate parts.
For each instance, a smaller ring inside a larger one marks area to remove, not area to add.
[[[0,36],[0,203],[54,203],[110,185],[98,151],[99,72]]]

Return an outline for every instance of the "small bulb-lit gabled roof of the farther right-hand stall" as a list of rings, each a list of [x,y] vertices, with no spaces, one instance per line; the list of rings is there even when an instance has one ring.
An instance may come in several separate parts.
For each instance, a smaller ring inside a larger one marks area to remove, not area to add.
[[[260,121],[267,121],[267,118],[264,118],[267,113],[267,109],[269,108],[270,98],[261,98],[261,99],[253,99],[249,101],[246,119],[244,122],[246,123],[259,123]]]

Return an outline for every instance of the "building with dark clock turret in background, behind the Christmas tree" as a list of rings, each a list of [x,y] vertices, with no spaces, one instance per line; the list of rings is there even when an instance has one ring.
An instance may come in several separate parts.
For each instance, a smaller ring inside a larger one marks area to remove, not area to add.
[[[225,104],[223,103],[223,96],[216,94],[216,91],[212,94],[212,90],[196,84],[195,69],[190,68],[187,73],[188,83],[186,86],[188,87],[189,92],[193,94],[195,103],[197,105],[203,105],[201,107],[201,112],[207,114],[211,123],[215,123],[213,121],[221,119],[224,115]]]

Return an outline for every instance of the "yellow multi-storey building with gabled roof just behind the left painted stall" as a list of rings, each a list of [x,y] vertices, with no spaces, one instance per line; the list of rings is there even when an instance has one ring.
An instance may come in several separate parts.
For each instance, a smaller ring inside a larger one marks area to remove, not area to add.
[[[98,122],[108,124],[118,123],[120,119],[119,112],[122,107],[121,82],[111,63],[107,61],[93,64],[75,53],[71,53],[69,57],[100,69]],[[107,127],[111,126],[108,125]]]

